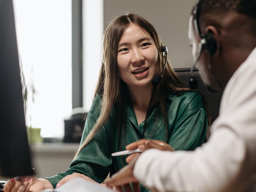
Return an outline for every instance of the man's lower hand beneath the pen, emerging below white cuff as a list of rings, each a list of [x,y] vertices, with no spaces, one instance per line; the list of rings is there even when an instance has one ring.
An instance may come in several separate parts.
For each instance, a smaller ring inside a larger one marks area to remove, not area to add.
[[[121,170],[115,173],[110,179],[107,181],[107,187],[113,188],[118,191],[132,191],[129,183],[132,183],[133,191],[140,191],[140,183],[133,175],[133,168],[135,162],[138,158],[138,154],[132,160],[132,162],[126,166],[124,166]]]

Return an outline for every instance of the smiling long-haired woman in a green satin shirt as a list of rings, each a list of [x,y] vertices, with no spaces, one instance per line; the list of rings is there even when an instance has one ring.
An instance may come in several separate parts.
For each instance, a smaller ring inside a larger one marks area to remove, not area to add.
[[[32,183],[31,190],[56,187],[73,173],[101,183],[109,172],[127,164],[127,156],[111,153],[140,139],[160,140],[175,150],[202,145],[208,126],[203,97],[183,87],[169,61],[163,68],[162,46],[154,27],[140,16],[113,20],[104,34],[95,98],[70,168],[53,177],[34,177],[32,182],[23,178],[26,181],[9,183],[5,191],[20,185],[28,189]],[[162,80],[154,86],[151,80],[163,69]]]

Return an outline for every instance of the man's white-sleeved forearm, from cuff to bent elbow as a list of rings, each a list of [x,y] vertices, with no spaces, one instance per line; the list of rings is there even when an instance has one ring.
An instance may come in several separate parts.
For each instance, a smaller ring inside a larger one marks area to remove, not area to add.
[[[143,185],[158,191],[220,191],[238,173],[244,157],[243,142],[223,129],[194,152],[153,149],[142,153],[134,175]]]

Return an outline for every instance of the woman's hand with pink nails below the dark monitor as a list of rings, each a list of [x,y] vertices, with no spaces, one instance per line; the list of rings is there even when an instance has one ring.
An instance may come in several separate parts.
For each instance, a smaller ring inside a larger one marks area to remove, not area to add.
[[[38,179],[35,176],[24,176],[15,181],[10,179],[4,185],[4,192],[36,192],[46,188],[53,188],[47,179]]]

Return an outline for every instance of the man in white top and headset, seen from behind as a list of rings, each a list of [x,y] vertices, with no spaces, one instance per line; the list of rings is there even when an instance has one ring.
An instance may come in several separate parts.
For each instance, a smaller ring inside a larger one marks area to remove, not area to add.
[[[200,0],[188,36],[205,84],[224,88],[209,141],[195,151],[146,150],[109,187],[139,181],[157,191],[234,192],[256,183],[256,1]]]

